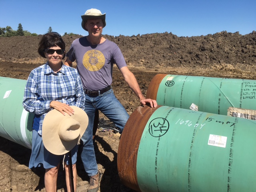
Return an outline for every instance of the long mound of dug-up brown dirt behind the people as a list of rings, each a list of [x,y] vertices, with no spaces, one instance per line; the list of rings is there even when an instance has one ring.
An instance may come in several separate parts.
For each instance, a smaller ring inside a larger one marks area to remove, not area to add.
[[[42,36],[0,37],[0,60],[38,63]],[[63,36],[66,50],[81,36]],[[247,68],[256,63],[256,32],[240,35],[226,31],[207,36],[178,37],[172,33],[108,36],[122,50],[129,66],[141,68],[201,67],[232,64]]]

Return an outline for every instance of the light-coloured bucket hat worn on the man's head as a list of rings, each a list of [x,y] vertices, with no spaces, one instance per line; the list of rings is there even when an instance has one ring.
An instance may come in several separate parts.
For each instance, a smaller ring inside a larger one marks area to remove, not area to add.
[[[102,19],[103,21],[103,28],[106,26],[106,13],[102,14],[100,12],[100,10],[98,9],[88,9],[84,15],[81,15],[82,17],[82,28],[86,31],[88,31],[86,28],[85,28],[85,22],[88,20],[88,19]]]

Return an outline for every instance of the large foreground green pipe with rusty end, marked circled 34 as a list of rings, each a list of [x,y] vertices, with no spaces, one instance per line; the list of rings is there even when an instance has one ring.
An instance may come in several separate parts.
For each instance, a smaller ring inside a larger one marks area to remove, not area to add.
[[[141,192],[255,191],[255,126],[243,118],[139,106],[120,139],[120,179]]]

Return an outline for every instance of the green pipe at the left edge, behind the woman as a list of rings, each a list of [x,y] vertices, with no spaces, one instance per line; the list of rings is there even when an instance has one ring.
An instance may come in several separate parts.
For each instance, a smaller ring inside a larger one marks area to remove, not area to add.
[[[31,149],[34,114],[22,106],[26,82],[0,77],[0,136]]]

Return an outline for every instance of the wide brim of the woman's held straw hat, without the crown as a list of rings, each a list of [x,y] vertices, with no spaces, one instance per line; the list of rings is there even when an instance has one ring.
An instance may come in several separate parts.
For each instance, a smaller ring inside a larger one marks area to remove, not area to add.
[[[87,126],[88,126],[88,116],[84,110],[76,106],[70,106],[74,109],[74,114],[71,116],[66,114],[64,116],[58,110],[53,109],[48,112],[44,118],[42,125],[42,140],[44,147],[55,155],[63,155],[68,153],[74,146],[76,146],[84,134]],[[58,135],[58,127],[59,123],[65,118],[74,118],[76,121],[80,123],[80,137],[72,140],[65,141],[62,140]]]

